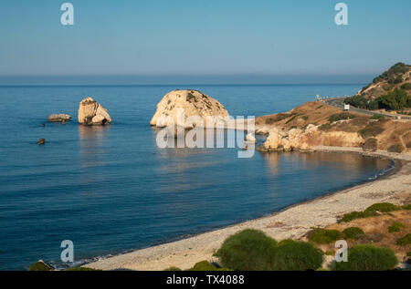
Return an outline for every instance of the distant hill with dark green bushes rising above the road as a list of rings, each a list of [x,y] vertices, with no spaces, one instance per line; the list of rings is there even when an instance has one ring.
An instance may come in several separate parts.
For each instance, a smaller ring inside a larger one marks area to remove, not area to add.
[[[409,114],[411,66],[401,62],[395,64],[344,102],[356,108],[394,110]]]

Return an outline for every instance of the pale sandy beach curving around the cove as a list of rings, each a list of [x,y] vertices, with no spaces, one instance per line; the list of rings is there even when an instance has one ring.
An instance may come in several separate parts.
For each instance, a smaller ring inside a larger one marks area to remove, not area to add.
[[[335,191],[320,198],[290,206],[284,211],[241,222],[223,229],[205,232],[193,237],[164,243],[150,248],[123,253],[111,258],[85,264],[102,270],[161,271],[170,266],[183,270],[195,263],[213,261],[213,253],[231,234],[244,229],[258,229],[276,240],[300,238],[312,227],[324,227],[336,222],[346,212],[364,210],[375,202],[401,203],[411,198],[411,154],[386,151],[364,152],[360,148],[317,147],[318,151],[361,153],[367,156],[396,160],[395,169],[386,177]]]

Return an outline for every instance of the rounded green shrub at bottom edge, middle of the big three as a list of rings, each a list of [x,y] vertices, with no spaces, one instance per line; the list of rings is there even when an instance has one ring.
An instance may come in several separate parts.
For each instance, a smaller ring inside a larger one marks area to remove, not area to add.
[[[279,271],[306,271],[321,267],[322,255],[320,249],[311,243],[287,240],[279,243],[276,250],[273,269]]]

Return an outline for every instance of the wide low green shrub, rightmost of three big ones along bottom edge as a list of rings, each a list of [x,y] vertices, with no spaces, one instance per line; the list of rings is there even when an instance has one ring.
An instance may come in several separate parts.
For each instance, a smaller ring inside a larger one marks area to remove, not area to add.
[[[398,260],[388,248],[358,245],[348,250],[348,262],[333,264],[337,271],[385,271],[395,268]]]

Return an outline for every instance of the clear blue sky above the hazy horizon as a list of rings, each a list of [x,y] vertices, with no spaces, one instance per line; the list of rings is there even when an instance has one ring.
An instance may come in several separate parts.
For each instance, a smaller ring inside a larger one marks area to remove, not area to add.
[[[74,6],[73,26],[60,23],[64,2]],[[348,26],[334,22],[339,2],[1,1],[0,77],[363,82],[396,62],[411,63],[411,1],[345,0]]]

